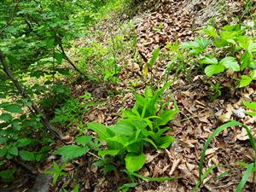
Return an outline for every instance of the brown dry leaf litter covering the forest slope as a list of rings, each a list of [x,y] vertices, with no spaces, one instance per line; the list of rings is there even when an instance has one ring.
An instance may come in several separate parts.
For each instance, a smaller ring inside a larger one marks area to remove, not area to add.
[[[172,96],[177,101],[180,113],[169,125],[168,134],[176,138],[172,147],[161,151],[148,151],[147,164],[140,171],[147,177],[180,177],[176,180],[156,183],[137,179],[137,187],[131,191],[158,191],[158,192],[184,192],[192,191],[199,180],[199,160],[201,150],[207,140],[219,125],[230,119],[237,119],[249,126],[256,135],[256,118],[236,113],[237,109],[244,108],[242,100],[256,102],[256,84],[244,89],[235,89],[235,83],[223,78],[221,95],[215,98],[216,90],[212,89],[214,79],[193,71],[190,75],[175,70],[166,75],[166,67],[172,60],[172,51],[168,49],[170,43],[182,43],[193,40],[198,31],[207,26],[209,20],[216,26],[236,22],[236,15],[241,15],[245,1],[193,1],[193,0],[148,0],[143,3],[132,15],[116,14],[111,19],[102,20],[100,24],[91,29],[91,38],[102,46],[109,44],[113,35],[122,35],[122,39],[130,41],[134,35],[137,37],[135,49],[122,48],[119,55],[120,82],[116,84],[91,84],[90,81],[78,81],[71,84],[74,98],[90,92],[94,96],[93,102],[101,102],[83,114],[83,123],[96,121],[105,125],[113,125],[121,115],[121,108],[132,108],[134,92],[143,93],[147,84],[162,87],[167,81],[173,81],[166,91],[166,96],[172,102]],[[129,23],[133,23],[131,27]],[[122,27],[119,27],[122,24]],[[128,26],[125,26],[127,24]],[[125,28],[126,27],[126,28]],[[125,35],[124,35],[125,34]],[[130,40],[129,40],[130,39]],[[91,39],[90,39],[91,40]],[[126,41],[125,40],[125,41]],[[86,47],[89,41],[84,38],[77,39],[74,47]],[[148,76],[143,76],[141,63],[135,61],[135,53],[147,62],[154,49],[160,46],[160,59]],[[69,50],[70,55],[77,54],[74,49]],[[79,56],[77,56],[79,60]],[[151,73],[154,78],[151,78]],[[208,82],[208,83],[206,83]],[[109,95],[109,90],[114,94]],[[117,93],[117,94],[116,94]],[[84,131],[86,132],[86,131]],[[69,140],[73,141],[78,130],[68,129]],[[254,136],[255,136],[254,135]],[[72,142],[71,142],[72,143]],[[56,143],[61,145],[61,143]],[[248,141],[246,131],[239,127],[230,128],[213,139],[206,153],[205,168],[218,166],[205,179],[201,191],[235,191],[245,168],[236,165],[237,161],[250,163],[253,161],[253,149]],[[76,183],[80,184],[80,191],[110,192],[129,183],[124,172],[110,172],[104,175],[93,162],[96,157],[84,155],[78,160],[71,161],[65,171],[72,179],[60,179],[50,191],[61,191],[61,188],[73,189]],[[48,162],[43,169],[48,167]],[[218,177],[226,172],[223,177]],[[249,178],[244,191],[253,191],[253,177]]]

